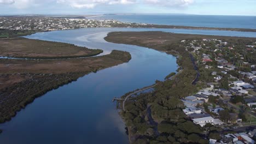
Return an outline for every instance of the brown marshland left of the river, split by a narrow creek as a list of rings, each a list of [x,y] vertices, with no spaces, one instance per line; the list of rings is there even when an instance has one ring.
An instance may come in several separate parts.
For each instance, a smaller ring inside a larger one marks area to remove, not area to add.
[[[131,59],[129,52],[117,50],[104,56],[72,58],[85,56],[85,53],[86,56],[90,56],[91,53],[95,55],[95,52],[102,50],[25,38],[0,41],[6,44],[2,45],[3,55],[9,53],[8,56],[37,58],[0,59],[0,123],[9,121],[17,111],[24,109],[35,98],[52,89],[66,85],[91,72],[96,73],[98,70],[129,62]],[[10,49],[4,49],[4,46]],[[63,58],[64,56],[68,58]],[[61,59],[49,59],[59,57]]]

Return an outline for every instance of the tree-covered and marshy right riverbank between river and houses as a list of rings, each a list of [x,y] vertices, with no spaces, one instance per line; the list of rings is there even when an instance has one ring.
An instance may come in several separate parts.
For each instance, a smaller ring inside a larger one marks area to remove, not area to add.
[[[112,43],[144,46],[178,56],[179,73],[173,76],[172,80],[158,82],[152,93],[131,97],[126,101],[126,111],[120,112],[129,129],[131,143],[208,143],[202,137],[203,128],[191,122],[182,111],[184,105],[181,99],[196,93],[203,83],[207,82],[205,78],[197,76],[194,58],[191,58],[190,54],[192,50],[188,50],[181,43],[182,40],[196,41],[197,39],[224,39],[234,43],[239,41],[242,44],[250,40],[255,41],[255,38],[164,32],[113,32],[105,38]],[[197,62],[201,59],[200,57],[196,57]],[[208,75],[205,71],[200,72],[203,77]],[[198,83],[194,82],[195,77],[199,80]],[[152,106],[152,118],[158,122],[160,136],[153,133],[155,126],[146,118],[148,105]]]

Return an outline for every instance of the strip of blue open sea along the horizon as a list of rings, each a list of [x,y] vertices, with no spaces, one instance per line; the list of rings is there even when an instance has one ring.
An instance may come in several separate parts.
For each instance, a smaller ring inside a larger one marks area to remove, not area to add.
[[[256,16],[223,16],[223,15],[175,15],[175,14],[133,14],[103,15],[88,17],[98,20],[118,20],[122,22],[152,23],[158,25],[253,28],[256,29]]]

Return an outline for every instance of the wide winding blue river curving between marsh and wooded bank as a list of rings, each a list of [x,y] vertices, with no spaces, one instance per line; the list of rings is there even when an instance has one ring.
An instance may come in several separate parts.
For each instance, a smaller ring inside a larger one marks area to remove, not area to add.
[[[100,70],[37,98],[11,121],[0,124],[2,144],[129,143],[114,97],[152,85],[176,71],[176,57],[146,47],[108,43],[103,38],[114,31],[165,31],[174,33],[255,37],[252,32],[186,29],[84,28],[44,32],[26,38],[50,40],[102,49],[128,51],[129,63]]]

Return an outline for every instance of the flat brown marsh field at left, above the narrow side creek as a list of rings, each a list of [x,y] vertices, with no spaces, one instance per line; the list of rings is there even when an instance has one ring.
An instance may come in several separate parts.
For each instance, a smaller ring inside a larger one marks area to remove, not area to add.
[[[0,56],[16,58],[73,58],[95,56],[102,50],[92,50],[73,44],[26,38],[0,39]]]

